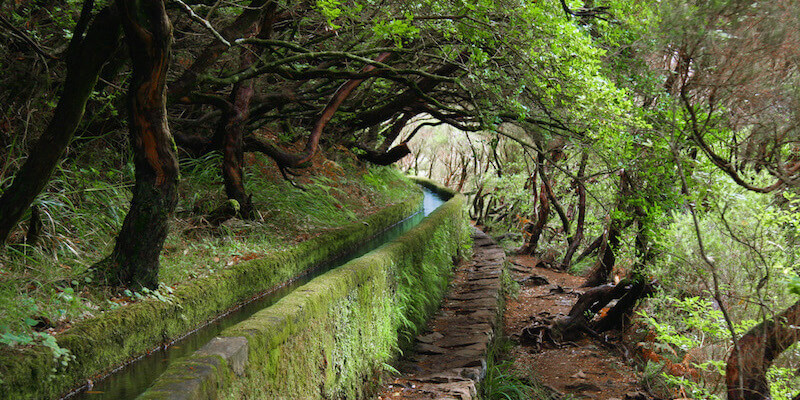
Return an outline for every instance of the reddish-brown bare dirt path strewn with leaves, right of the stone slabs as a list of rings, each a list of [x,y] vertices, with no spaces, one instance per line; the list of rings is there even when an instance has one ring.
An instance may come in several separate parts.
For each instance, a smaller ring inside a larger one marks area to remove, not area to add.
[[[582,279],[548,269],[535,268],[536,259],[509,257],[512,276],[521,283],[516,300],[509,300],[504,315],[506,336],[515,339],[534,316],[567,314],[582,293]],[[539,279],[527,279],[540,276]],[[640,391],[639,373],[621,352],[593,339],[560,347],[517,345],[511,356],[522,376],[531,376],[554,393],[555,399],[638,400],[649,399]]]

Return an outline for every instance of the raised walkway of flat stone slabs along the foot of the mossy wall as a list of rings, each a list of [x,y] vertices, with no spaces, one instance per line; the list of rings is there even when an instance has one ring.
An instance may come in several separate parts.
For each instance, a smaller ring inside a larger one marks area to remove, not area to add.
[[[486,352],[500,313],[505,252],[478,229],[472,259],[456,267],[450,292],[428,331],[399,362],[402,376],[385,385],[378,399],[477,399],[486,372]]]

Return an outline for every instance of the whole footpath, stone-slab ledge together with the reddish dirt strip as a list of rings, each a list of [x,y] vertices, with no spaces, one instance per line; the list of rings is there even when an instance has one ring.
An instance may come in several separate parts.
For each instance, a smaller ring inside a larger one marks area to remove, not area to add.
[[[478,229],[472,238],[473,258],[456,267],[440,310],[395,365],[400,376],[385,384],[377,399],[478,399],[487,347],[501,334],[518,343],[507,356],[514,360],[517,375],[538,388],[535,399],[652,399],[642,388],[641,372],[619,350],[622,346],[612,350],[591,338],[560,346],[520,344],[520,332],[532,321],[569,312],[583,292],[583,279],[538,268],[535,257],[513,256],[509,271],[520,282],[520,292],[503,304],[505,252]],[[501,333],[496,329],[503,306]]]

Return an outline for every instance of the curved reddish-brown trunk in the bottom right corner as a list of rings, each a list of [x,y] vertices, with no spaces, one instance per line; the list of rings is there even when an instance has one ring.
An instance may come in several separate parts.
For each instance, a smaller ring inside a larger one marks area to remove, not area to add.
[[[767,370],[789,346],[800,340],[800,301],[744,334],[728,357],[728,400],[770,399]]]

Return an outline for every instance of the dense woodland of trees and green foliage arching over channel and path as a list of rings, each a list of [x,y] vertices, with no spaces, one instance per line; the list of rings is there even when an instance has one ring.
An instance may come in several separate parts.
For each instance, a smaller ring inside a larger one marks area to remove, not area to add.
[[[768,376],[780,398],[798,379],[790,1],[0,1],[0,25],[3,268],[110,253],[43,285],[59,307],[84,284],[157,288],[176,205],[282,221],[262,200],[276,186],[251,181],[268,158],[298,185],[322,146],[468,193],[478,224],[587,286],[657,287],[638,326],[672,362],[705,354],[704,380],[667,384],[740,399]],[[310,182],[320,209],[338,204]],[[229,201],[199,194],[215,185]]]

